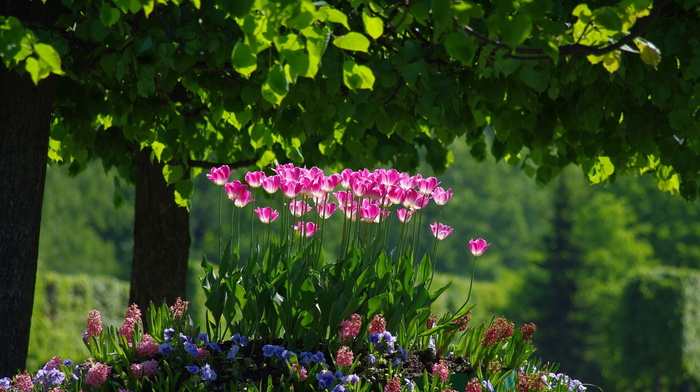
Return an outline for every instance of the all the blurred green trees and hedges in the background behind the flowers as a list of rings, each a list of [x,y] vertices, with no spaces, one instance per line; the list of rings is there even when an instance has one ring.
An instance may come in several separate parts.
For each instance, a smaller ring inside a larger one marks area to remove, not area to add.
[[[478,260],[473,322],[500,315],[516,324],[534,321],[543,358],[604,390],[698,390],[696,204],[659,191],[650,176],[622,176],[602,187],[565,170],[540,187],[519,167],[492,158],[475,161],[462,142],[451,150],[454,164],[437,177],[454,193],[441,219],[454,233],[440,244],[437,283],[453,286],[435,313],[454,310],[464,300],[472,265],[466,243],[483,237],[493,246]],[[427,166],[420,172],[435,175]],[[232,179],[242,176],[237,172]],[[200,175],[195,189],[185,297],[201,319],[199,262],[203,255],[216,259],[221,188]],[[222,233],[228,236],[231,209],[225,207]],[[249,224],[246,218],[241,227]],[[426,249],[432,241],[428,225],[436,219],[437,209],[426,210]],[[53,355],[85,356],[81,334],[91,309],[121,323],[128,305],[132,230],[133,189],[121,187],[114,173],[92,165],[71,178],[65,168],[50,168],[29,369]],[[241,230],[242,244],[250,241],[248,232]],[[332,242],[324,238],[331,248]],[[671,350],[680,353],[680,365],[668,372],[662,358]]]

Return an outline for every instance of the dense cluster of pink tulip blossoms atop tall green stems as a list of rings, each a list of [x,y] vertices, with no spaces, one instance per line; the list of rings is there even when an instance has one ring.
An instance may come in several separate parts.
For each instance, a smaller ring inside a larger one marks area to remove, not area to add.
[[[228,182],[232,171],[226,165],[212,168],[207,174],[212,182],[223,186],[228,198],[243,207],[253,202],[249,188],[262,188],[268,194],[282,193],[288,199],[287,206],[295,218],[302,218],[312,210],[321,219],[328,219],[336,211],[352,221],[380,223],[386,220],[390,207],[399,206],[396,216],[402,223],[411,220],[416,211],[424,208],[430,200],[438,206],[452,198],[451,189],[443,189],[435,177],[411,176],[395,169],[345,169],[340,173],[326,175],[323,170],[312,167],[296,167],[293,164],[279,165],[272,169],[274,175],[263,171],[248,172],[245,183]],[[262,223],[269,224],[279,216],[272,207],[258,207],[255,213]],[[444,239],[452,228],[439,222],[431,226],[437,239]],[[319,230],[317,221],[297,220],[294,229],[304,236]]]

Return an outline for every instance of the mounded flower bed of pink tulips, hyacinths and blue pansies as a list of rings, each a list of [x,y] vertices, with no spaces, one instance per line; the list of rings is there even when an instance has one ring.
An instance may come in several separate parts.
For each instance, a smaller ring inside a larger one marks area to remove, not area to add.
[[[145,320],[132,305],[119,328],[103,328],[93,310],[83,336],[88,360],[55,357],[34,374],[0,379],[0,391],[585,390],[556,365],[532,359],[534,324],[516,328],[499,317],[470,325],[473,271],[454,314],[430,312],[449,287],[431,286],[438,244],[452,229],[430,224],[434,245],[420,259],[413,244],[421,211],[451,198],[436,178],[395,170],[327,176],[293,165],[273,172],[247,173],[245,184],[228,182],[225,166],[208,175],[234,212],[253,211],[264,230],[247,251],[231,239],[216,265],[202,261],[206,325],[193,325],[180,299],[151,306]],[[277,203],[289,213],[274,206],[280,193]],[[255,208],[258,196],[270,204]],[[329,261],[324,222],[335,215],[343,220],[340,251]],[[469,241],[473,268],[489,245]]]

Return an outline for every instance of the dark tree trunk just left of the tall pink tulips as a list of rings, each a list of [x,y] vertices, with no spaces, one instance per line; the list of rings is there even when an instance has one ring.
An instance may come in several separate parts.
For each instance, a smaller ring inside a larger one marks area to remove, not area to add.
[[[174,186],[163,178],[163,164],[151,150],[136,153],[134,259],[130,303],[172,304],[185,297],[190,247],[189,213],[174,200]]]

